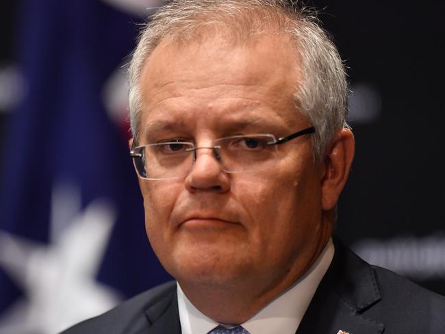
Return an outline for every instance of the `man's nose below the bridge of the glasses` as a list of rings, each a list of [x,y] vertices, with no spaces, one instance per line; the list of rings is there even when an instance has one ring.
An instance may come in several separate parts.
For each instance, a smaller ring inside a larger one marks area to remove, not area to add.
[[[227,192],[230,190],[230,179],[221,167],[218,151],[214,147],[197,147],[196,159],[192,170],[186,177],[186,188],[190,192],[214,191]]]

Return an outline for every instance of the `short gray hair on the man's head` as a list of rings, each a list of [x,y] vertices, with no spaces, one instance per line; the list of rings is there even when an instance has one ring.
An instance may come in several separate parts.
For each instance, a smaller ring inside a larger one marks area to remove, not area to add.
[[[160,8],[142,28],[129,66],[130,123],[135,140],[142,109],[140,75],[153,50],[160,42],[187,42],[215,27],[231,33],[233,40],[273,31],[294,42],[303,77],[294,83],[296,109],[316,127],[314,157],[322,159],[335,131],[348,127],[346,73],[314,12],[285,0],[173,0]]]

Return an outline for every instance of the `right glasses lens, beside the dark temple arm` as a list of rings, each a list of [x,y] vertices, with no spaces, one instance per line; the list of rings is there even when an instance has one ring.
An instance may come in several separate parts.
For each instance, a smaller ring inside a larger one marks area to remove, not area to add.
[[[232,136],[215,141],[220,164],[227,172],[246,172],[264,168],[273,161],[277,147],[272,135]]]

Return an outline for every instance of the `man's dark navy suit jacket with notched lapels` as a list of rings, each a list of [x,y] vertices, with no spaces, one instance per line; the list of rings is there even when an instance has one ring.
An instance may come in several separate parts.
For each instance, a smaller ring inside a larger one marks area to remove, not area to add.
[[[445,334],[445,297],[370,266],[335,240],[335,255],[296,334]],[[176,283],[144,292],[64,334],[180,334]]]

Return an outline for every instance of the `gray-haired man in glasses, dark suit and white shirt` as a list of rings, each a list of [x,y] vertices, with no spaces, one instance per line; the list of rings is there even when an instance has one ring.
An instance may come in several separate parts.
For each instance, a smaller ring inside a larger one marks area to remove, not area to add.
[[[159,10],[131,61],[130,146],[177,282],[66,333],[444,333],[444,298],[331,238],[346,96],[335,47],[288,1]]]

